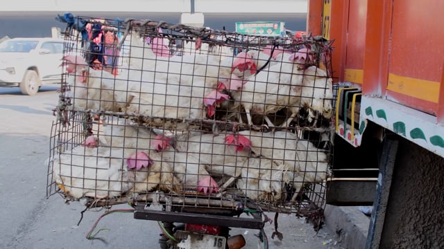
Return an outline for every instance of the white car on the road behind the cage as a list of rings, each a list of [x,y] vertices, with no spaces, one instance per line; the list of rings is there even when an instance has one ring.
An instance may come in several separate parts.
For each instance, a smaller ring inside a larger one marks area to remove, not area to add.
[[[12,38],[0,44],[0,86],[19,86],[34,95],[44,84],[62,80],[63,39]]]

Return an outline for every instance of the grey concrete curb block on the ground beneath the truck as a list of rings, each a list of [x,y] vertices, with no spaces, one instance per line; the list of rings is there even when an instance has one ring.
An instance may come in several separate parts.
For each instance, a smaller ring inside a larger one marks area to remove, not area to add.
[[[327,205],[325,207],[325,225],[336,234],[343,248],[366,248],[370,217],[357,207]]]

